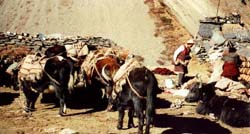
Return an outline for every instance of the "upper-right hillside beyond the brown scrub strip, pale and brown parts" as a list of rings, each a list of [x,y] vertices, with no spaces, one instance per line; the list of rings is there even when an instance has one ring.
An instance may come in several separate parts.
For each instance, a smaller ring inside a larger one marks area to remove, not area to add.
[[[250,1],[246,5],[240,0],[162,0],[176,16],[178,21],[192,34],[196,35],[199,20],[205,17],[226,16],[232,12],[241,15],[246,27],[250,26]]]

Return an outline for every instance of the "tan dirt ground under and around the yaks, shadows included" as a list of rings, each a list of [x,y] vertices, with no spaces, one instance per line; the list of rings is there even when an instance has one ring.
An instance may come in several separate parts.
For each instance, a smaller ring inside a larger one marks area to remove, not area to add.
[[[190,63],[190,75],[199,71],[203,76],[208,75],[208,66],[197,61]],[[166,78],[176,78],[176,75],[156,75],[159,86]],[[58,107],[55,107],[53,96],[40,96],[37,110],[32,114],[23,112],[24,96],[20,91],[0,87],[0,134],[135,134],[137,128],[127,129],[125,116],[124,129],[117,130],[117,112],[106,112],[103,101],[93,90],[80,90],[67,103],[65,117],[59,117]],[[182,101],[184,98],[173,96],[167,92],[157,96],[155,126],[152,134],[247,134],[249,128],[233,128],[215,121],[209,116],[195,113],[196,103],[183,103],[180,108],[170,108],[171,103]],[[127,114],[126,114],[127,115]],[[134,119],[137,126],[137,119]],[[65,132],[67,131],[67,132]]]

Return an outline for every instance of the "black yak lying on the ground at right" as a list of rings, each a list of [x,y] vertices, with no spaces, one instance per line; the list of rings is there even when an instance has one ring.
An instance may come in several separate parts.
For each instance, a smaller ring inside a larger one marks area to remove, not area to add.
[[[217,119],[230,126],[249,127],[250,103],[216,95],[215,84],[216,82],[208,84],[194,83],[185,101],[198,101],[196,107],[198,114],[213,113]]]

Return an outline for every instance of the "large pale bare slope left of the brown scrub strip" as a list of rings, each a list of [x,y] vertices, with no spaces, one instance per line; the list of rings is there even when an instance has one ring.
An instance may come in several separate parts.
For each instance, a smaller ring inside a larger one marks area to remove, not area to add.
[[[157,64],[163,49],[142,1],[1,0],[0,5],[0,31],[101,36],[142,55],[147,65]]]

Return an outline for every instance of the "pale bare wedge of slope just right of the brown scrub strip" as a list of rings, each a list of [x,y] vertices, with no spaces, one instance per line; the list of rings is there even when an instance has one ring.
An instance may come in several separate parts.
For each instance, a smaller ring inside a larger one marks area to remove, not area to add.
[[[163,0],[163,2],[192,35],[198,32],[200,19],[216,15],[216,8],[209,0]]]

